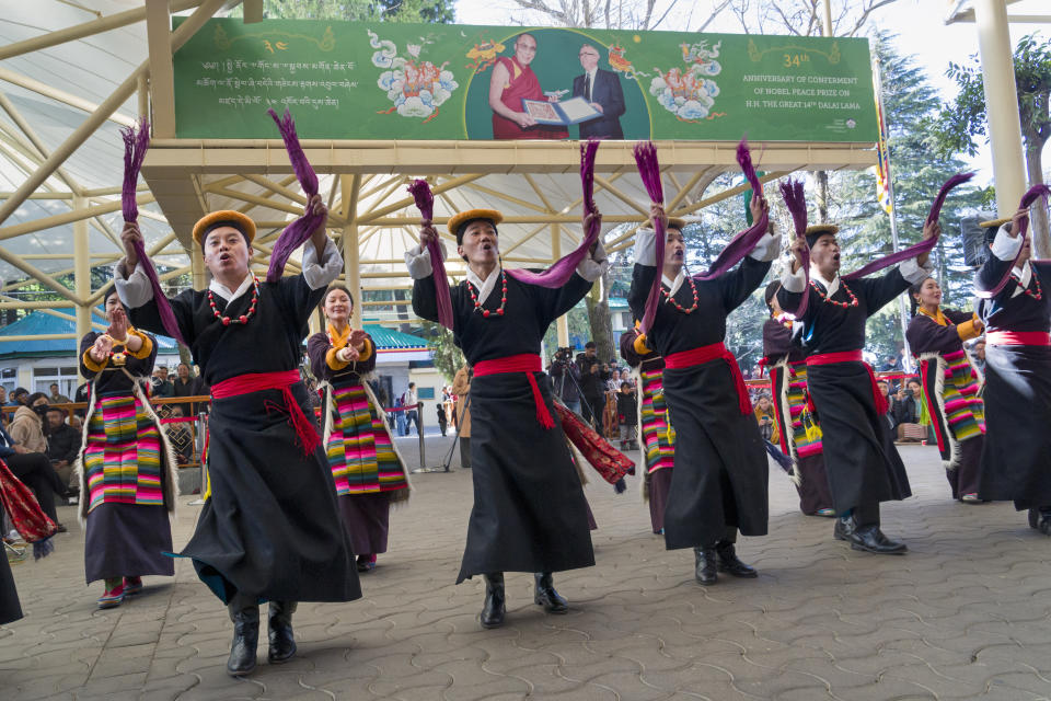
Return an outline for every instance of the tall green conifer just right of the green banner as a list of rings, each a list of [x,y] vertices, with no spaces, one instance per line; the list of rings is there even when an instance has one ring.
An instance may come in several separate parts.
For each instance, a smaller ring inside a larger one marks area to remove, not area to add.
[[[901,245],[920,240],[931,203],[942,184],[966,171],[955,156],[932,159],[931,124],[942,101],[923,69],[912,56],[899,54],[890,37],[879,34],[874,50],[883,74],[883,113],[890,131],[890,169],[898,211]],[[890,218],[876,202],[876,179],[870,171],[856,171],[831,179],[830,207],[838,222],[843,248],[844,272],[861,267],[891,251]],[[949,196],[942,210],[943,235],[935,251],[936,274],[945,288],[945,303],[970,307],[972,271],[963,265],[960,219],[982,207],[982,191],[962,185]],[[899,307],[888,304],[869,320],[868,349],[880,357],[893,354],[903,344]]]

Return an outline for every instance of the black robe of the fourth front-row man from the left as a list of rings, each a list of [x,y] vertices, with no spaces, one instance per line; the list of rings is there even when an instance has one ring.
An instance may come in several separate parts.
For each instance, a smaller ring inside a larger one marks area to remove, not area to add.
[[[811,283],[804,292],[789,292],[784,287],[777,291],[777,302],[788,310],[798,308],[804,294],[810,296],[800,320],[800,341],[808,356],[864,348],[868,318],[909,289],[909,281],[897,267],[879,277],[850,280],[845,286],[841,279],[832,300],[850,303],[846,288],[857,298],[856,307],[843,308],[821,298],[828,290],[820,280]],[[824,468],[838,514],[912,495],[887,417],[876,412],[868,372],[858,361],[807,367],[807,389],[821,422]]]

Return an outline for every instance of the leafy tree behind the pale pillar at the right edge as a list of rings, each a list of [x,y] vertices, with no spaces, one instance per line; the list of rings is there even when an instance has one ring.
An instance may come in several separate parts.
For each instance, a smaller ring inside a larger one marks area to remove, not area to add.
[[[1026,175],[1029,185],[1043,182],[1043,147],[1051,138],[1051,44],[1036,35],[1024,36],[1015,47],[1015,84],[1018,117],[1026,147]],[[943,154],[978,152],[975,137],[985,136],[985,89],[978,55],[969,65],[949,64],[946,74],[960,89],[952,104],[942,110],[932,124]],[[1032,212],[1033,245],[1039,257],[1051,256],[1048,214],[1042,207]]]

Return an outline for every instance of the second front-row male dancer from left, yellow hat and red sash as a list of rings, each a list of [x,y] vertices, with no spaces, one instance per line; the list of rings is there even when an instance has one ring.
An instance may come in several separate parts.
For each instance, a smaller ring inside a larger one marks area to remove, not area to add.
[[[594,564],[588,507],[562,427],[552,420],[551,379],[541,371],[540,342],[608,266],[597,244],[561,289],[519,281],[501,267],[500,221],[493,209],[449,219],[457,253],[467,262],[466,280],[450,290],[453,336],[474,367],[474,507],[457,584],[485,576],[484,628],[504,623],[505,572],[534,573],[534,602],[565,613],[568,605],[555,591],[552,573]],[[438,321],[438,299],[427,245],[437,237],[434,227],[424,226],[419,246],[405,254],[415,280],[413,311],[430,321]]]

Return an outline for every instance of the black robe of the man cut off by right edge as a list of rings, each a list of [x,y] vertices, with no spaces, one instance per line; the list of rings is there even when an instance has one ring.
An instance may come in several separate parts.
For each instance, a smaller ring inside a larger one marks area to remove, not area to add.
[[[995,255],[974,277],[978,289],[992,289],[1010,261]],[[1051,262],[1030,261],[1029,292],[1015,296],[1014,277],[993,299],[978,302],[985,333],[1051,331]],[[1051,347],[985,345],[985,445],[978,495],[1013,499],[1018,510],[1051,506]]]

